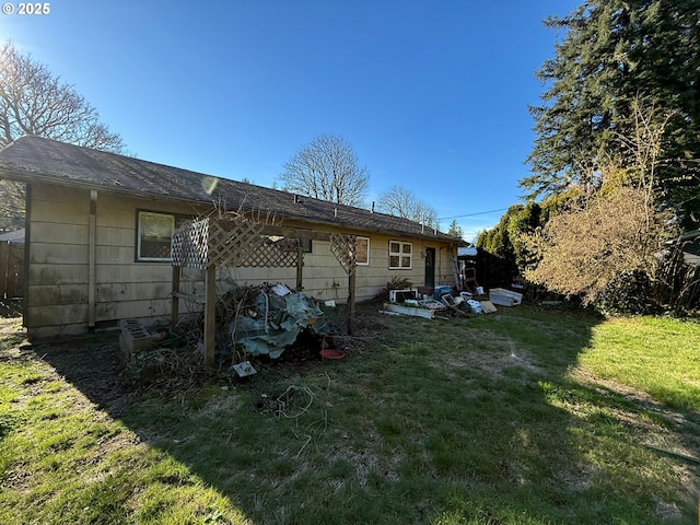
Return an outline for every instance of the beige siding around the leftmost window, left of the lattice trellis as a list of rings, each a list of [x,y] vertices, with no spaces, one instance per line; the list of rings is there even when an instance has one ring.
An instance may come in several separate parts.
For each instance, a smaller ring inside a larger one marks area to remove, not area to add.
[[[95,322],[166,317],[172,266],[137,262],[136,211],[178,212],[176,207],[97,195]],[[88,328],[90,191],[34,185],[30,218],[30,300],[26,323],[40,337]]]

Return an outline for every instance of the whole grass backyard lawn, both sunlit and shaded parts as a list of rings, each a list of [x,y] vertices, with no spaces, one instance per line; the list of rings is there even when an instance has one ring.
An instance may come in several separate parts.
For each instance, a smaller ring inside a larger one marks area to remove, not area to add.
[[[118,399],[61,361],[114,339],[5,319],[0,523],[697,522],[700,324],[359,311],[342,361]]]

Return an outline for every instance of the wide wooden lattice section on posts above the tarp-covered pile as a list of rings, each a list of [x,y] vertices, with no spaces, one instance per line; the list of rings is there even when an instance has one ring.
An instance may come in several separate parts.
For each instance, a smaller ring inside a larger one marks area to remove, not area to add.
[[[175,231],[174,266],[290,268],[298,265],[299,241],[266,235],[265,223],[243,217],[194,221]],[[303,257],[303,255],[302,255]]]

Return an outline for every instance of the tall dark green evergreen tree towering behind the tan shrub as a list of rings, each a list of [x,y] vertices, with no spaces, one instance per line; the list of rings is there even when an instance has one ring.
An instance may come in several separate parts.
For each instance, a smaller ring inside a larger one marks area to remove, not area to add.
[[[641,96],[673,115],[658,163],[660,203],[676,210],[686,228],[698,228],[698,0],[587,0],[545,21],[564,36],[537,72],[547,89],[542,104],[530,108],[533,175],[521,180],[528,197],[595,188],[610,160],[626,167],[620,137],[633,130],[632,106]]]

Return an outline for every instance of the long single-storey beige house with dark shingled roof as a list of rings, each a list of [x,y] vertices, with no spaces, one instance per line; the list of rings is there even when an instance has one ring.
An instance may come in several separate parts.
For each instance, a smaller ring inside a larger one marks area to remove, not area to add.
[[[455,283],[459,238],[372,210],[26,136],[0,150],[0,179],[26,184],[24,325],[30,337],[114,327],[124,318],[171,316],[174,231],[225,213],[294,231],[357,235],[355,299],[395,277],[416,285]],[[306,236],[304,292],[347,300],[346,271],[329,243]],[[294,268],[220,268],[218,285],[284,282]],[[201,270],[179,289],[202,291]],[[179,301],[186,314],[200,308]]]

